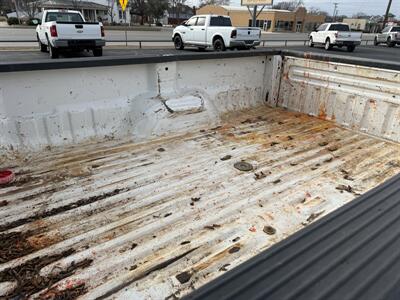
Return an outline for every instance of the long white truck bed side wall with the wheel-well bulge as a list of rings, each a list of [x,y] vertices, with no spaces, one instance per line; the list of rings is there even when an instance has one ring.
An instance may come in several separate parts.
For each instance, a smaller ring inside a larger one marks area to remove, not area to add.
[[[279,80],[271,76],[279,75],[280,59],[0,73],[0,145],[34,150],[216,126],[225,112],[261,105],[267,93],[277,96],[272,83]]]

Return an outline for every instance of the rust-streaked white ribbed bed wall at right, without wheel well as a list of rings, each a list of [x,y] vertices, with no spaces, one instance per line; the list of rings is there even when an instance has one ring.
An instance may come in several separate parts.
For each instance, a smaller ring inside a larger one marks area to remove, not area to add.
[[[270,103],[400,141],[400,72],[286,57]]]

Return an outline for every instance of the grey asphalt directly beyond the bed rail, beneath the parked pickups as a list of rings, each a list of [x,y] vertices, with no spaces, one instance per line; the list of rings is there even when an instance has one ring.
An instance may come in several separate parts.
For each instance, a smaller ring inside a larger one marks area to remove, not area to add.
[[[258,48],[258,49],[262,49]],[[270,48],[269,48],[270,49]],[[400,54],[400,47],[388,48],[387,46],[360,46],[357,47],[353,53],[346,51],[346,48],[338,49],[333,48],[331,51],[325,51],[323,48],[310,48],[307,46],[292,46],[287,49],[294,49],[306,52],[319,52],[319,53],[331,53],[335,55],[353,56],[353,57],[364,57],[369,59],[378,59],[385,61],[398,61]],[[201,53],[196,49],[187,49],[184,51],[190,51],[192,53]],[[250,50],[251,51],[251,50]],[[143,55],[149,56],[154,54],[176,54],[181,53],[180,51],[172,48],[167,49],[104,49],[104,56],[124,56],[124,55]],[[80,52],[80,53],[66,53],[61,57],[82,57],[90,58],[93,57],[91,52]],[[42,53],[39,50],[34,51],[0,51],[0,63],[13,62],[13,61],[38,61],[38,60],[50,60],[47,53]]]

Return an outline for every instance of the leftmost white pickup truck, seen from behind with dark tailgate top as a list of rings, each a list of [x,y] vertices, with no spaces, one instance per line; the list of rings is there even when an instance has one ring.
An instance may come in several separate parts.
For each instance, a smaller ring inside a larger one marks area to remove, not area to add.
[[[99,22],[85,22],[82,14],[73,10],[46,10],[36,27],[40,51],[49,51],[58,58],[60,50],[92,50],[103,55],[104,28]]]

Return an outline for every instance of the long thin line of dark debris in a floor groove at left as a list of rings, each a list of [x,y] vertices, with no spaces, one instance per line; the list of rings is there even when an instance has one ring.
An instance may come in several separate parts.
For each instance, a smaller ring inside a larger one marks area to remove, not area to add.
[[[91,203],[96,202],[96,201],[104,200],[106,198],[118,195],[119,193],[125,192],[125,191],[127,191],[127,189],[115,189],[115,190],[113,190],[111,192],[107,192],[107,193],[104,193],[104,194],[101,194],[101,195],[92,196],[92,197],[85,198],[85,199],[80,199],[80,200],[78,200],[76,202],[69,203],[67,205],[63,205],[63,206],[60,206],[60,207],[53,208],[51,210],[39,212],[36,215],[30,216],[30,217],[27,217],[27,218],[21,218],[21,219],[18,219],[16,221],[13,221],[13,222],[0,225],[0,231],[9,230],[9,229],[24,225],[26,223],[30,223],[30,222],[33,222],[33,221],[36,221],[36,220],[47,218],[47,217],[51,217],[51,216],[57,215],[59,213],[65,212],[65,211],[69,211],[69,210],[75,209],[75,208],[80,207],[80,206],[85,206],[85,205],[91,204]]]

